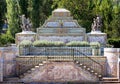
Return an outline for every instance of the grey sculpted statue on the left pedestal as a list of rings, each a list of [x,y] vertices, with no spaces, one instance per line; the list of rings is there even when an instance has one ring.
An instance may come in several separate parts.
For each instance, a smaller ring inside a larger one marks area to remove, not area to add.
[[[22,15],[21,21],[22,21],[22,24],[21,24],[22,31],[31,31],[32,23],[30,19],[26,18],[25,15]]]

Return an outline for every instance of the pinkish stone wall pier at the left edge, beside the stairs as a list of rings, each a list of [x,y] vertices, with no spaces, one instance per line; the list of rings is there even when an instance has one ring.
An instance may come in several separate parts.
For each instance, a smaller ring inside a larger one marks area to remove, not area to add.
[[[15,58],[18,55],[18,48],[15,46],[0,48],[1,58],[3,59],[3,77],[11,77],[16,73]]]

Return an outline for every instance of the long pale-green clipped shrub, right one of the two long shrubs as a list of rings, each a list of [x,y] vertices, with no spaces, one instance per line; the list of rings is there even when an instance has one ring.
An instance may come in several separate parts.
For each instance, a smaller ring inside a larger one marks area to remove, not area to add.
[[[71,41],[69,43],[66,44],[67,46],[76,46],[76,47],[85,47],[85,46],[89,46],[89,43],[86,41]]]

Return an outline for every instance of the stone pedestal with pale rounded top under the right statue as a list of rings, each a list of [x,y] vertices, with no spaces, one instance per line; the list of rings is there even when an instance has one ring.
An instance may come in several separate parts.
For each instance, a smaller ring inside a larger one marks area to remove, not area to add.
[[[106,45],[107,34],[101,31],[94,31],[87,34],[88,42],[99,42],[101,45]]]

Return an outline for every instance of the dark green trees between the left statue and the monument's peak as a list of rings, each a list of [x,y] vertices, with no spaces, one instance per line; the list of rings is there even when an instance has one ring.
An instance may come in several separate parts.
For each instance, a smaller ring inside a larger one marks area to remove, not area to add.
[[[41,26],[50,15],[52,0],[31,0],[28,11],[31,12],[31,20],[34,31]]]

